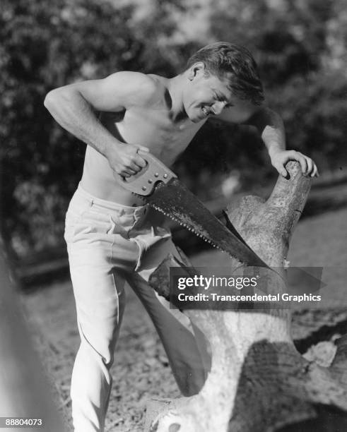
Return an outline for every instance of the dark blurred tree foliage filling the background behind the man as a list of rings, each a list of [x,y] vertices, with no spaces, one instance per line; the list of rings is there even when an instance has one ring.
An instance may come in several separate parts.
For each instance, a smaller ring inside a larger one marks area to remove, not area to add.
[[[215,40],[254,52],[291,148],[312,155],[321,171],[346,166],[343,0],[143,3],[139,16],[131,1],[1,2],[1,214],[18,255],[62,242],[64,212],[81,176],[85,145],[54,123],[45,94],[119,70],[174,76],[190,54]],[[175,170],[204,199],[231,171],[248,187],[274,175],[252,128],[210,124]]]

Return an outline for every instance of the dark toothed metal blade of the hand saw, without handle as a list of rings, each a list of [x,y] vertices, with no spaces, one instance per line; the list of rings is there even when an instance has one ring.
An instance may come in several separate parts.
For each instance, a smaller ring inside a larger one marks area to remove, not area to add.
[[[155,186],[154,192],[146,196],[145,202],[240,263],[268,267],[249,248],[235,227],[233,232],[225,227],[177,178]]]

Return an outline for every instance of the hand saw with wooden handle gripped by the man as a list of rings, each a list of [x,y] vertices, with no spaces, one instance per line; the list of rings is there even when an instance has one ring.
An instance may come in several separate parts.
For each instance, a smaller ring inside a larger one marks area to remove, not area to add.
[[[146,167],[134,176],[119,177],[124,188],[241,263],[268,267],[247,246],[233,224],[229,222],[225,227],[163,162],[149,152],[138,153],[146,160]]]

